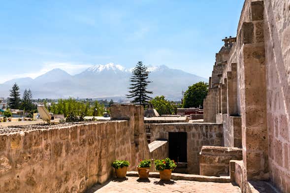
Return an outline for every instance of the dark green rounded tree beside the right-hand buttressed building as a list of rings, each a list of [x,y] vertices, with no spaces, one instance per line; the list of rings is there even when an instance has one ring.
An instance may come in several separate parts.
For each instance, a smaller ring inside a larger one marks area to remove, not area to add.
[[[203,108],[203,99],[208,93],[208,83],[198,82],[188,87],[184,93],[183,108]]]

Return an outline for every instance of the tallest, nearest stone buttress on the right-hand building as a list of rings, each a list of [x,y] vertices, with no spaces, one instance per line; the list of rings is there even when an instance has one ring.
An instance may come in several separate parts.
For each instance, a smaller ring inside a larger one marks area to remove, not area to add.
[[[268,179],[263,1],[251,3],[252,22],[239,32],[243,163],[248,180]]]

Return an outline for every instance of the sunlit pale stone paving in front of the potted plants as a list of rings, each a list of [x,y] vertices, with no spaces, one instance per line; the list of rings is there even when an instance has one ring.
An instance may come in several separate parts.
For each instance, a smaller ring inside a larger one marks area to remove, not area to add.
[[[185,180],[162,182],[159,178],[140,180],[138,177],[127,177],[95,185],[86,193],[241,193],[241,190],[231,183]]]

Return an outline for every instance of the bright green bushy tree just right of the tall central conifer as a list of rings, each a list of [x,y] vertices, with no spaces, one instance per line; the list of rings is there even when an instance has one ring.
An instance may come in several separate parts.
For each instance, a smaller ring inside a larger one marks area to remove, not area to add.
[[[172,115],[175,114],[175,105],[172,102],[165,99],[165,96],[156,96],[150,103],[157,110],[160,115]]]

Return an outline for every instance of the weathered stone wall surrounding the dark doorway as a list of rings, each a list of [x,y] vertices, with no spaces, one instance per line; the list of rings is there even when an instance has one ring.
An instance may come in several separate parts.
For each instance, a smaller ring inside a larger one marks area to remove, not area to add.
[[[151,140],[168,140],[168,132],[187,132],[187,173],[199,174],[199,152],[204,145],[223,146],[222,127],[213,123],[153,124]]]

